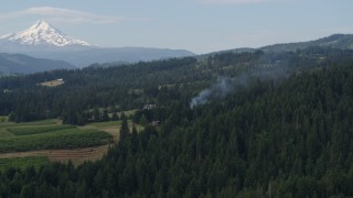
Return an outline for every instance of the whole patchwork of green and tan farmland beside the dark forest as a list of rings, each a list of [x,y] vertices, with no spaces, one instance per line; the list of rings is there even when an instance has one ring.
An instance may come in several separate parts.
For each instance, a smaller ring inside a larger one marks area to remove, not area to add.
[[[39,166],[47,162],[96,161],[119,140],[121,121],[90,123],[85,127],[61,124],[60,120],[28,123],[0,123],[0,169]],[[129,121],[132,129],[132,122]],[[138,131],[143,128],[136,125]],[[43,160],[44,158],[44,160]]]

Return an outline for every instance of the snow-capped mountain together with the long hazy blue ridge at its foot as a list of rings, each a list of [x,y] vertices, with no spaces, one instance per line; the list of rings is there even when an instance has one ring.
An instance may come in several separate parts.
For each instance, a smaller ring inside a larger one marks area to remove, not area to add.
[[[185,50],[98,47],[85,41],[72,38],[43,20],[22,32],[1,36],[0,52],[60,59],[78,67],[85,67],[94,63],[136,63],[195,55]]]

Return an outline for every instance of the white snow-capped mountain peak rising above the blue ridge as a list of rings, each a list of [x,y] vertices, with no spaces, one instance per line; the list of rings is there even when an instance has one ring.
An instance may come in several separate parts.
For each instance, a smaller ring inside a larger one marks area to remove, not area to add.
[[[49,45],[49,46],[90,46],[87,42],[72,38],[53,28],[44,20],[39,20],[31,28],[13,34],[3,35],[2,41],[22,45]]]

